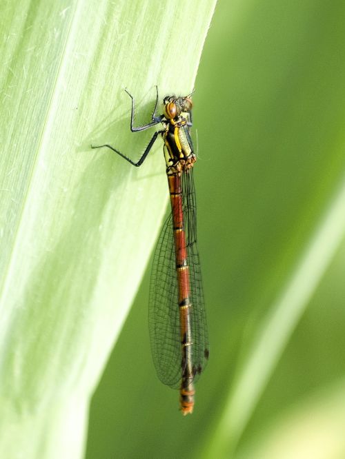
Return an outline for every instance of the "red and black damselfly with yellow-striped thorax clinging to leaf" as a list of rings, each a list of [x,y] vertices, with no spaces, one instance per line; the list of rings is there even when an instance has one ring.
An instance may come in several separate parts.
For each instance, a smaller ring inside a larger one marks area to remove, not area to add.
[[[108,147],[140,166],[161,134],[164,140],[166,174],[170,192],[171,214],[168,216],[155,249],[152,266],[149,327],[152,358],[162,383],[179,388],[180,407],[183,414],[193,412],[194,383],[206,367],[208,360],[208,334],[201,285],[199,255],[197,252],[197,222],[193,165],[197,160],[190,138],[192,126],[191,96],[167,96],[164,98],[164,114],[150,123],[134,126],[135,101],[132,99],[130,130],[144,131],[159,123],[139,161]]]

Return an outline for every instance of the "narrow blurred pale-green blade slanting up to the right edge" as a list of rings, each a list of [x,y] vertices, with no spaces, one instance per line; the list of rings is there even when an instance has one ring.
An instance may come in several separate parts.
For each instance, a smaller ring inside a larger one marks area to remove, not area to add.
[[[333,196],[294,272],[282,287],[281,296],[270,305],[255,331],[253,343],[239,368],[219,420],[217,436],[211,445],[213,452],[229,441],[229,432],[233,444],[242,435],[288,339],[342,243],[345,234],[344,209],[345,184]]]

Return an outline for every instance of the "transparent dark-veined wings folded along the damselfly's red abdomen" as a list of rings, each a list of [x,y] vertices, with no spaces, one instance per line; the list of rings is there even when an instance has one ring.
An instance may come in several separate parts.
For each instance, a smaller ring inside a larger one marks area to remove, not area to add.
[[[192,300],[193,372],[197,380],[208,360],[208,334],[197,252],[193,169],[183,174],[182,192]],[[181,338],[172,216],[166,219],[155,249],[150,283],[149,327],[157,375],[162,383],[179,387],[182,371]]]

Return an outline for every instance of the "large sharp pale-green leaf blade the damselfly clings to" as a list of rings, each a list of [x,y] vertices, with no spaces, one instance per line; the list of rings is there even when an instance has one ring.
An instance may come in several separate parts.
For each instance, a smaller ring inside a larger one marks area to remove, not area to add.
[[[124,88],[193,90],[215,0],[0,8],[0,456],[75,459],[166,206],[160,151],[90,144],[140,154]]]

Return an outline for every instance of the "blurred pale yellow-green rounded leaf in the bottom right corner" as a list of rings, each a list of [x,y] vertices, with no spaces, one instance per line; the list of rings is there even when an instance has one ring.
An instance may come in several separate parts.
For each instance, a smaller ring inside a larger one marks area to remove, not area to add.
[[[345,453],[344,380],[295,403],[248,445],[239,459],[341,459]]]

